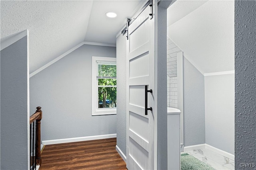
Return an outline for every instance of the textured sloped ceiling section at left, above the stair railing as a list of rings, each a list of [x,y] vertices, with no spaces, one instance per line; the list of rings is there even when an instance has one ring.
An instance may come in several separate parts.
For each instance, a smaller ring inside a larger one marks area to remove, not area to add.
[[[1,1],[1,41],[28,29],[30,72],[84,41],[92,1]]]

